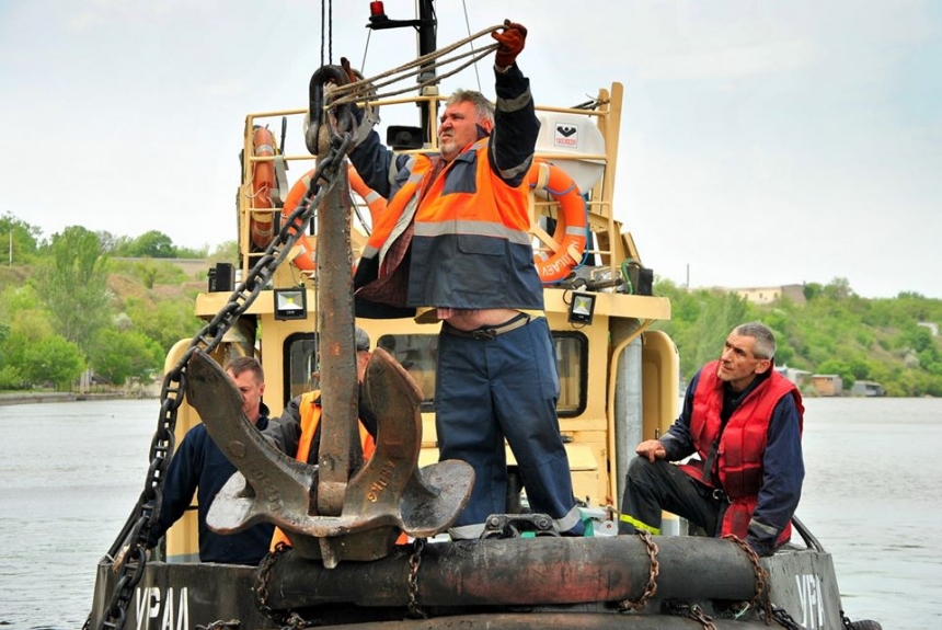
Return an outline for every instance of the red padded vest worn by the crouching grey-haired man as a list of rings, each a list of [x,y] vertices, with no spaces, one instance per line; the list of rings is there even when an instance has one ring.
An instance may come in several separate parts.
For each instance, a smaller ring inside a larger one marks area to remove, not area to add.
[[[706,485],[713,486],[711,472],[703,470],[711,446],[720,439],[716,451],[717,472],[723,491],[732,501],[723,517],[721,535],[733,534],[746,538],[749,522],[762,488],[762,458],[768,442],[769,423],[779,401],[785,396],[794,398],[799,411],[799,432],[802,429],[802,396],[793,382],[776,371],[748,393],[733,411],[726,427],[722,427],[723,381],[716,369],[719,362],[706,364],[700,371],[700,381],[693,393],[693,413],[690,416],[690,435],[700,460],[680,468]],[[722,435],[721,435],[722,429]],[[791,538],[791,524],[778,537],[781,545]]]

